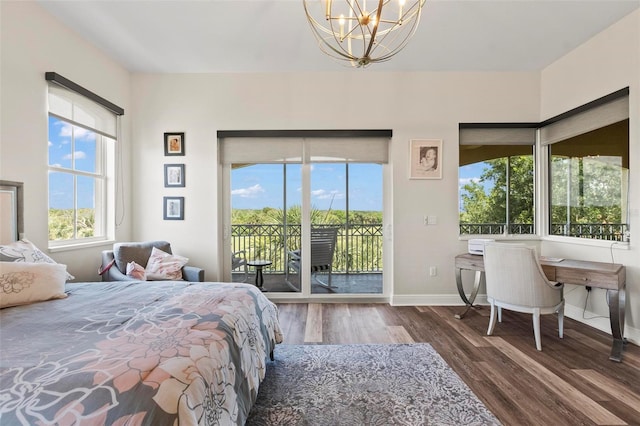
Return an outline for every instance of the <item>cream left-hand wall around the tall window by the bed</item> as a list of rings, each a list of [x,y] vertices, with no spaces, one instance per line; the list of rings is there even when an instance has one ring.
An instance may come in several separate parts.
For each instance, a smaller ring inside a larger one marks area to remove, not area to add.
[[[46,71],[64,77],[123,107],[123,179],[129,182],[130,74],[103,52],[42,10],[35,2],[0,2],[0,179],[24,182],[25,237],[78,280],[98,279],[100,251],[112,243],[47,252]],[[124,200],[129,205],[129,185]],[[117,229],[127,239],[130,217]]]

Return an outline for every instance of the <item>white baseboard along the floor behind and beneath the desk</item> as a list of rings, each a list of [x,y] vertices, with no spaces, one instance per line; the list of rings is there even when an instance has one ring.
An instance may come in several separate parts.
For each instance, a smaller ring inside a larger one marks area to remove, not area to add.
[[[487,295],[478,294],[478,305],[487,305]],[[458,294],[396,294],[391,296],[392,306],[463,306]],[[597,314],[574,305],[565,305],[564,314],[568,318],[586,324],[597,330],[611,334],[609,318],[597,317]],[[640,346],[640,329],[625,324],[624,337],[634,345]]]

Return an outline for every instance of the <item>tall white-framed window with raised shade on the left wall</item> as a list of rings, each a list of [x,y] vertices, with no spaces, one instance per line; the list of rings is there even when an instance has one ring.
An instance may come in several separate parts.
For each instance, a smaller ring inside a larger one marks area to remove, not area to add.
[[[112,238],[116,114],[50,83],[48,119],[49,245]]]

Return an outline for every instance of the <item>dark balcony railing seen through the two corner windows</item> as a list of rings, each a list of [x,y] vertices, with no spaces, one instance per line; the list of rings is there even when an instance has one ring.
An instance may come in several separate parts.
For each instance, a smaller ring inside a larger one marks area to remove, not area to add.
[[[461,223],[461,235],[502,235],[506,223]],[[578,238],[590,238],[607,241],[624,241],[626,223],[552,223],[550,235],[563,235]],[[508,234],[530,235],[534,233],[533,224],[510,223]]]

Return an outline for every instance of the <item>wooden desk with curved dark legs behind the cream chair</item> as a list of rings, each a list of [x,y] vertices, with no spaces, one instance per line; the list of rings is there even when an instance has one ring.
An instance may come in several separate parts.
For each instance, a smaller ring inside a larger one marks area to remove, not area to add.
[[[617,263],[588,262],[583,260],[564,259],[559,262],[540,259],[542,270],[550,281],[564,284],[584,285],[607,290],[609,300],[609,321],[613,345],[609,359],[620,362],[624,347],[624,305],[627,270],[624,265]],[[480,282],[484,277],[484,258],[482,256],[464,253],[456,256],[456,284],[460,298],[465,303],[465,310],[455,317],[462,319],[478,294]],[[473,289],[469,297],[462,287],[462,270],[475,271]]]

